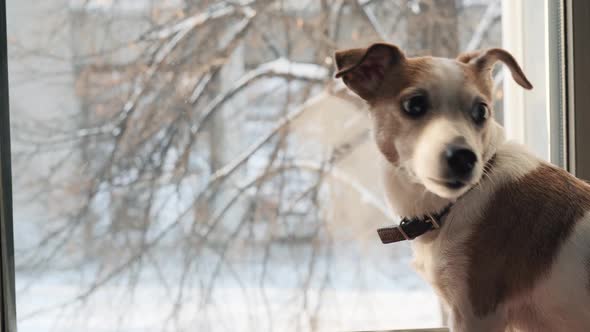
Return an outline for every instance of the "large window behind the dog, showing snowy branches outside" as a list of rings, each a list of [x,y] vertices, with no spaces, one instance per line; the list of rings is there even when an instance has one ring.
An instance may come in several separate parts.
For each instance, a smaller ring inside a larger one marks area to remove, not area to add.
[[[539,3],[6,1],[3,327],[12,288],[25,332],[442,325],[409,246],[376,237],[397,217],[331,55],[375,40],[410,55],[504,46],[536,89],[498,70],[498,120],[585,174],[583,23],[571,3]]]

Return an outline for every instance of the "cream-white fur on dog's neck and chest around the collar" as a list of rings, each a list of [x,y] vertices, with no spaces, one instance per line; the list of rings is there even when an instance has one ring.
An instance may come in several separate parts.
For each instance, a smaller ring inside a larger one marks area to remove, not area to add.
[[[500,132],[493,135],[494,139],[487,147],[492,151],[484,153],[486,157],[495,153],[492,174],[484,175],[477,187],[456,202],[445,219],[444,228],[422,235],[412,243],[415,268],[431,284],[444,284],[446,291],[439,295],[451,307],[451,321],[453,310],[463,310],[460,313],[462,319],[456,321],[454,331],[504,331],[503,322],[507,309],[484,318],[476,318],[468,309],[470,304],[465,281],[467,262],[463,243],[472,232],[472,221],[480,219],[486,203],[498,187],[526,175],[541,164],[541,161],[526,148],[516,143],[505,142],[500,126],[495,125],[494,128]],[[424,215],[440,210],[454,201],[443,199],[432,194],[424,186],[408,181],[408,177],[403,172],[400,173],[399,168],[389,163],[384,164],[384,174],[389,203],[400,215]],[[578,264],[576,268],[582,266],[584,265]],[[588,274],[581,275],[586,277]],[[459,322],[461,325],[457,325]]]

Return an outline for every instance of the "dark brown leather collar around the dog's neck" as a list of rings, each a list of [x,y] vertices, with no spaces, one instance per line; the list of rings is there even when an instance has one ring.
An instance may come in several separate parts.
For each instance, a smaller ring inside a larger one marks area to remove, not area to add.
[[[496,155],[493,155],[492,158],[488,160],[488,162],[484,166],[484,173],[490,172],[495,159]],[[473,188],[477,187],[478,184],[474,185],[469,190],[467,190],[457,200],[464,197],[468,192],[473,190]],[[377,234],[379,234],[379,238],[381,239],[381,242],[383,244],[399,242],[404,240],[413,240],[424,233],[442,227],[444,217],[449,213],[449,211],[453,207],[453,204],[454,203],[450,203],[449,205],[445,206],[441,211],[433,214],[428,214],[426,216],[412,218],[404,217],[397,226],[389,226],[377,229]]]

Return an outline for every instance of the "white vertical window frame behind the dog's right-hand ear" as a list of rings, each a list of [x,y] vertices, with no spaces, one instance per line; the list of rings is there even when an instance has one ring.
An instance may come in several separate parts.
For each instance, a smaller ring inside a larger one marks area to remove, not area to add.
[[[529,15],[535,11],[543,11],[543,15]],[[504,126],[509,139],[526,144],[541,158],[569,169],[563,15],[561,1],[502,1],[503,47],[514,55],[535,86],[526,91],[505,73]],[[541,31],[537,29],[540,24],[544,26]],[[531,69],[540,66],[543,72]]]

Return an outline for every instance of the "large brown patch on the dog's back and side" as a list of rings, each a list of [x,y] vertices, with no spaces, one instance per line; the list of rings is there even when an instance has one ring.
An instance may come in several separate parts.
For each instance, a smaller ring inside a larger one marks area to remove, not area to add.
[[[545,277],[589,209],[590,186],[549,165],[497,190],[466,244],[474,313],[493,312]]]

